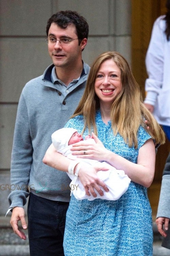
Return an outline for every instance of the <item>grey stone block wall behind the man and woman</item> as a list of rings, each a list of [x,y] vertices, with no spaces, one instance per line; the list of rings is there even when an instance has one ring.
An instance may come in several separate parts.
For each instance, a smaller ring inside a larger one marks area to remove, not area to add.
[[[48,18],[75,10],[89,24],[83,60],[118,51],[131,63],[130,0],[0,0],[0,215],[8,208],[10,160],[19,96],[23,86],[50,65]]]

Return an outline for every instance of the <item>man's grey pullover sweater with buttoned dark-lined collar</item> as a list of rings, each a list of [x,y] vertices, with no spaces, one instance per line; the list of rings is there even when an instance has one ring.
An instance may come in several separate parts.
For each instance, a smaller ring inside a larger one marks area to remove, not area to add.
[[[83,94],[89,66],[84,63],[81,77],[68,87],[52,83],[50,65],[43,75],[23,88],[17,110],[11,158],[12,192],[10,208],[26,204],[29,190],[40,197],[69,202],[70,179],[42,160],[50,146],[51,134],[66,124]]]

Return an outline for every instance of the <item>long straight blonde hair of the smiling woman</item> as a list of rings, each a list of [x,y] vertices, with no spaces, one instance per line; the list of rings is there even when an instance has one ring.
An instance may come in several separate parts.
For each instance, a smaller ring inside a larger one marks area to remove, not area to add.
[[[111,107],[110,117],[114,134],[116,135],[119,132],[125,143],[128,143],[130,147],[134,145],[137,148],[137,131],[140,125],[145,125],[144,121],[146,119],[149,123],[148,133],[155,140],[155,143],[165,143],[165,135],[162,128],[143,104],[139,85],[134,79],[128,62],[118,52],[105,52],[94,60],[84,94],[71,118],[83,115],[83,132],[88,127],[89,133],[93,129],[97,135],[95,116],[96,111],[100,109],[100,102],[95,93],[95,80],[101,63],[108,59],[113,59],[120,68],[122,82],[120,94],[116,97]]]

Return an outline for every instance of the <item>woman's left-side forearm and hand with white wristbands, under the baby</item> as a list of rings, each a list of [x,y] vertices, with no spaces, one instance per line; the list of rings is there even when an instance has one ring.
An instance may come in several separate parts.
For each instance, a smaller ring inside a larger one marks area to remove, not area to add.
[[[43,158],[43,162],[46,165],[49,165],[57,170],[61,170],[64,172],[68,172],[68,167],[71,162],[74,160],[70,160],[69,158],[63,156],[62,154],[58,153],[53,144],[51,144]],[[78,165],[74,168],[74,173],[77,169]],[[104,182],[102,182],[98,176],[97,171],[101,170],[100,165],[93,167],[91,165],[88,165],[86,163],[83,163],[81,165],[80,171],[79,171],[79,178],[82,182],[86,194],[90,196],[90,194],[94,197],[96,197],[96,193],[94,191],[94,188],[98,191],[98,193],[103,196],[103,191],[101,190],[100,186],[103,187],[105,191],[108,192],[108,188],[105,185]]]

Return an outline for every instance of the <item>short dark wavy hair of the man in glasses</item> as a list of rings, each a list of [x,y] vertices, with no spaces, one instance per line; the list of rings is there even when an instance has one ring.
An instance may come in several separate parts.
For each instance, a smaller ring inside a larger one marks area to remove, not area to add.
[[[55,23],[61,28],[67,28],[68,25],[74,24],[79,39],[79,45],[84,38],[88,38],[88,23],[83,16],[80,16],[79,13],[75,11],[60,11],[53,14],[47,22],[47,36],[51,23]]]

